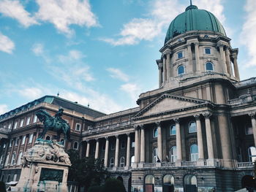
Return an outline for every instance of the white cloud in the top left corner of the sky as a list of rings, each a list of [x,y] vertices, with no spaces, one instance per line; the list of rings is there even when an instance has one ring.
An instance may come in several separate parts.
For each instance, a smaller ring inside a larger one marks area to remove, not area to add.
[[[31,17],[30,13],[27,12],[20,1],[14,0],[3,0],[0,1],[0,12],[10,18],[18,20],[20,24],[25,27],[29,27],[34,24],[38,24],[35,18]]]

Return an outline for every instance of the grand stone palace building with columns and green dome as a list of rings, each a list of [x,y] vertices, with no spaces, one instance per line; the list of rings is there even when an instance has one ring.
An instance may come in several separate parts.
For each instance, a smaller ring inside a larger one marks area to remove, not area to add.
[[[42,128],[34,112],[63,107],[72,128],[66,149],[100,158],[127,191],[253,186],[256,78],[240,81],[230,40],[211,12],[190,5],[167,30],[159,88],[141,93],[138,107],[105,115],[44,96],[1,115],[1,180],[19,178],[20,157]]]

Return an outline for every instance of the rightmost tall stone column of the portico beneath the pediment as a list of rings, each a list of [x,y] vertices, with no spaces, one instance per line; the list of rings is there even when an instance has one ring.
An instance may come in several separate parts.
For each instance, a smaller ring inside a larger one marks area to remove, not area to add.
[[[203,114],[203,116],[206,118],[206,141],[207,141],[208,158],[214,158],[214,146],[212,142],[211,122],[210,122],[211,113],[207,112]]]

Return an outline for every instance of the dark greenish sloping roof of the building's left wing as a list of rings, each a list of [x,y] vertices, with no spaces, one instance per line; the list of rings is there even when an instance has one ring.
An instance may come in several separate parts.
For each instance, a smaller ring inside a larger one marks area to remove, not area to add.
[[[15,115],[18,112],[26,111],[29,108],[34,107],[35,105],[40,104],[40,103],[54,104],[54,105],[57,105],[59,107],[62,107],[62,108],[68,109],[68,110],[74,110],[76,112],[80,112],[85,115],[89,115],[93,118],[99,118],[99,117],[106,115],[103,112],[93,110],[89,107],[78,104],[77,102],[72,102],[67,99],[62,99],[59,96],[43,96],[39,99],[31,101],[27,104],[20,106],[20,107],[17,107],[14,110],[11,110],[10,112],[6,112],[3,115],[0,115],[0,120],[2,120],[4,118],[8,118],[9,116]]]

